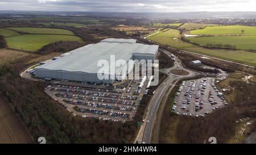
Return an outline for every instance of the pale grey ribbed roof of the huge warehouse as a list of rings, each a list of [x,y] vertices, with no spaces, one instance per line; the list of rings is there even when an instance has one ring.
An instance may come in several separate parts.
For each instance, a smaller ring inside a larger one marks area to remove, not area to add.
[[[123,41],[124,42],[124,41]],[[68,72],[97,73],[101,67],[97,66],[98,60],[110,62],[110,55],[116,60],[128,61],[134,53],[155,55],[158,45],[144,45],[138,43],[112,43],[101,41],[93,45],[86,45],[69,52],[71,54],[37,66],[35,69],[65,70]],[[115,69],[117,71],[118,68]]]

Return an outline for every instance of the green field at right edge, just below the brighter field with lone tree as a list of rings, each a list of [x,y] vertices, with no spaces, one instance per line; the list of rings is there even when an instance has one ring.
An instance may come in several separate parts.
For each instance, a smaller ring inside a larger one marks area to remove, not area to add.
[[[210,44],[236,45],[237,49],[256,49],[256,36],[213,36],[213,37],[190,37],[193,43],[201,46]]]

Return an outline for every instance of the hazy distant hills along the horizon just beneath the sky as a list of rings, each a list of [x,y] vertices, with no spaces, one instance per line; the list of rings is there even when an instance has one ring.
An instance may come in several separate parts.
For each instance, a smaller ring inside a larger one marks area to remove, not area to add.
[[[150,19],[202,19],[202,18],[255,18],[255,12],[63,12],[63,11],[0,11],[0,15],[77,15],[77,16],[113,16],[125,18],[150,18]]]

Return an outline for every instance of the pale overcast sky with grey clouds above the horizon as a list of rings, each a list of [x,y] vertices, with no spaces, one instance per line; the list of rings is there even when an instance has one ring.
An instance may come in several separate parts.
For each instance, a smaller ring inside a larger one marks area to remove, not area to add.
[[[196,12],[256,11],[255,0],[0,0],[0,10]]]

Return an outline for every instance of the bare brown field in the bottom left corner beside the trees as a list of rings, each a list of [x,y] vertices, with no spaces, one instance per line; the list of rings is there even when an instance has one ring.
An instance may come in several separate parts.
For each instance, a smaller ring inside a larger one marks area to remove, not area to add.
[[[9,103],[0,95],[0,143],[34,143]]]

